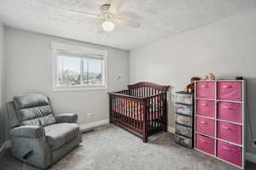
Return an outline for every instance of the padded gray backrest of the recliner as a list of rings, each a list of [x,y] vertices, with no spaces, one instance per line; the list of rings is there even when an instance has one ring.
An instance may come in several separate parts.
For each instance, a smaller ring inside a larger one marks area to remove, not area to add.
[[[13,98],[21,125],[47,126],[55,123],[55,116],[44,94],[24,94]]]

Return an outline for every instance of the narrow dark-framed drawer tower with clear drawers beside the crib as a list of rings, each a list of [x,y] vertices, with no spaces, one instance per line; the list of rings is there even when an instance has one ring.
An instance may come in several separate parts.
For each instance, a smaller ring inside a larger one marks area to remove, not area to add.
[[[194,147],[194,95],[176,92],[175,142]]]

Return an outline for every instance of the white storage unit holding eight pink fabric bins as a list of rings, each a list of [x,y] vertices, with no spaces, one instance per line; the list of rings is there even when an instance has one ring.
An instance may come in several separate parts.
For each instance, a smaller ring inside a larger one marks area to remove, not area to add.
[[[241,169],[246,149],[245,87],[244,80],[195,82],[195,150]]]

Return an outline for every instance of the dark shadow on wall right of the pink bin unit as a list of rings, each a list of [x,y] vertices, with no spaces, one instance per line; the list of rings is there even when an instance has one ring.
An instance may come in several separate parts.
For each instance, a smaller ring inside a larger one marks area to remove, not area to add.
[[[246,77],[247,89],[247,151],[256,154],[256,148],[253,147],[253,139],[256,139],[256,77]],[[253,135],[253,138],[252,138]]]

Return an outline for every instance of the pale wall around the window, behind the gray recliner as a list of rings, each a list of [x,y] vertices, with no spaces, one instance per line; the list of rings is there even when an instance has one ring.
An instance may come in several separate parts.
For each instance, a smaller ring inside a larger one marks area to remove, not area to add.
[[[51,41],[108,50],[108,89],[53,92]],[[108,119],[108,92],[126,88],[129,82],[129,52],[86,42],[6,28],[6,99],[16,94],[44,93],[55,112],[78,112],[79,124]],[[117,81],[117,77],[121,80]],[[93,117],[88,119],[87,114]]]

